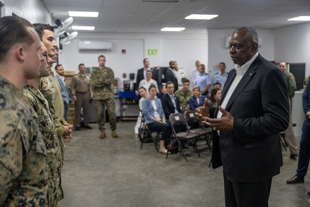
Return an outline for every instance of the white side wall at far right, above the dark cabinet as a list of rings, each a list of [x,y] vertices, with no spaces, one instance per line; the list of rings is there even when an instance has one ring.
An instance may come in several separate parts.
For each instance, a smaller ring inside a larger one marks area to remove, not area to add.
[[[310,23],[275,30],[274,59],[276,62],[306,63],[310,74]]]

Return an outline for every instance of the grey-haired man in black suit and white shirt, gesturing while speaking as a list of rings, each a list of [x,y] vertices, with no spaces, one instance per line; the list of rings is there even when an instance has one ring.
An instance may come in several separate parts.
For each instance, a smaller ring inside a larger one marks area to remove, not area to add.
[[[272,177],[283,165],[279,133],[289,123],[286,80],[258,53],[252,27],[232,34],[230,56],[236,64],[213,111],[207,99],[198,119],[213,128],[212,167],[223,165],[226,206],[268,206]]]

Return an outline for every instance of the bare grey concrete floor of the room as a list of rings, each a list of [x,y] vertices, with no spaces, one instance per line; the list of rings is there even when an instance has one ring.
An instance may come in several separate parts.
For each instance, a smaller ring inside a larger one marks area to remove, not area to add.
[[[66,144],[62,169],[64,199],[59,207],[155,207],[225,206],[223,169],[208,167],[211,153],[201,149],[166,156],[152,143],[143,144],[134,134],[135,122],[118,122],[118,138],[100,139],[97,124],[93,129],[73,131],[73,140]],[[296,137],[299,145],[300,137]],[[310,206],[305,183],[286,184],[295,175],[297,160],[283,152],[281,173],[272,179],[269,206]]]

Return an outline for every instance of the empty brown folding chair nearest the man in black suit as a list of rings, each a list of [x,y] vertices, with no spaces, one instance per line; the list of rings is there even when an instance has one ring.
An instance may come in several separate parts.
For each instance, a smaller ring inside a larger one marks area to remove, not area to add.
[[[195,111],[194,110],[185,111],[184,118],[186,120],[186,124],[187,124],[187,127],[188,127],[188,123],[187,122],[196,119]],[[203,136],[205,138],[205,140],[206,140],[206,145],[208,145],[209,150],[211,152],[210,139],[212,137],[212,129],[211,128],[202,128],[201,127],[201,122],[199,123],[199,127],[200,128],[197,128],[197,129],[190,129],[190,132],[191,133],[196,133],[196,134],[199,134],[199,135]],[[205,144],[203,144],[203,145],[205,145]],[[198,146],[202,146],[202,145],[198,145]]]

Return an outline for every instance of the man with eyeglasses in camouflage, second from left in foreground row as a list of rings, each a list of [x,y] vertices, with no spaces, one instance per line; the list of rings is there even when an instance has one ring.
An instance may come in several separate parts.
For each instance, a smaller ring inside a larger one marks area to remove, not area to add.
[[[61,149],[57,137],[54,120],[51,117],[49,106],[46,98],[38,90],[42,77],[50,75],[50,63],[52,59],[47,54],[47,49],[41,42],[40,52],[46,58],[41,61],[40,76],[35,79],[27,80],[23,90],[23,95],[28,99],[30,105],[38,115],[38,123],[41,129],[45,146],[47,148],[47,171],[48,171],[48,198],[50,206],[57,206],[58,194],[61,192],[60,166],[61,166]]]

